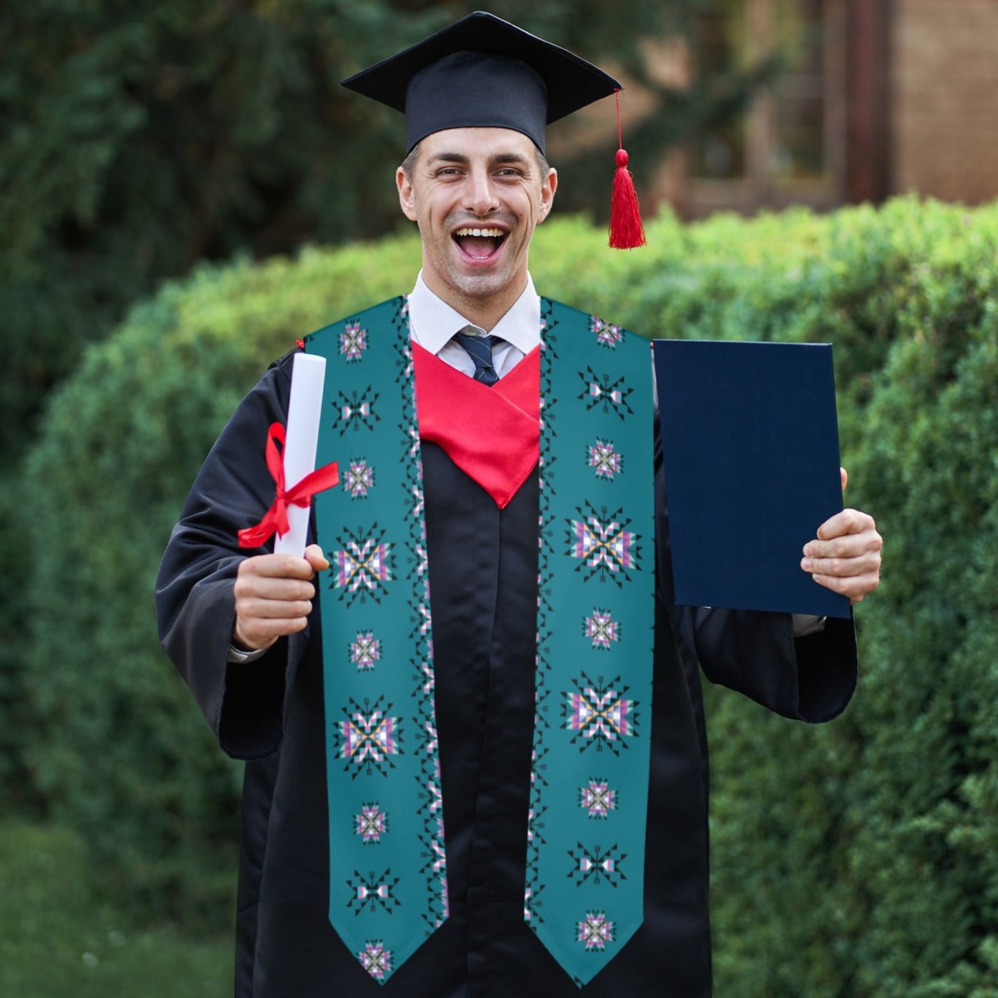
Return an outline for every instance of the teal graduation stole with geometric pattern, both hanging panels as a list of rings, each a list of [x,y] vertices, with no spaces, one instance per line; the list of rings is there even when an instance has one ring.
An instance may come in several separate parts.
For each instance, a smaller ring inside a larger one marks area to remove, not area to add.
[[[647,340],[546,298],[541,306],[537,713],[524,919],[581,987],[643,918],[651,362]],[[331,562],[319,593],[329,919],[383,983],[447,917],[407,301],[393,298],[320,329],[305,349],[327,358],[316,463],[337,460],[341,484],[315,499],[317,540]]]

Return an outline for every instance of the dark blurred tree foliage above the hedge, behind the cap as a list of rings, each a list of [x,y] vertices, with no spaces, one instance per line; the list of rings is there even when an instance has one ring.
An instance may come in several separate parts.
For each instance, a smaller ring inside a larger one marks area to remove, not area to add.
[[[492,9],[655,86],[638,42],[682,30],[697,5],[496,0]],[[395,228],[401,117],[339,80],[471,9],[425,0],[5,5],[0,307],[15,376],[0,450],[18,451],[17,424],[82,345],[163,278],[238,250],[262,257]],[[697,113],[713,106],[698,103]],[[665,109],[646,131],[675,139],[676,118]],[[663,131],[663,122],[672,125]],[[612,170],[611,155],[604,185]]]

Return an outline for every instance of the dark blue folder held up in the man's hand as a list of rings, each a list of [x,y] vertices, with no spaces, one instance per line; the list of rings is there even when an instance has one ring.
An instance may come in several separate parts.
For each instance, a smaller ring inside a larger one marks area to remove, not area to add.
[[[842,509],[831,345],[654,349],[676,602],[848,617],[800,568]]]

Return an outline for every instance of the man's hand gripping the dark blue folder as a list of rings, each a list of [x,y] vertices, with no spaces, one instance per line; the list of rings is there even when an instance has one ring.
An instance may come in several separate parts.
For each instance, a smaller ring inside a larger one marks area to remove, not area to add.
[[[841,469],[842,491],[848,476]],[[880,584],[883,538],[873,517],[857,509],[843,509],[817,528],[817,537],[804,545],[800,567],[814,581],[858,603]]]

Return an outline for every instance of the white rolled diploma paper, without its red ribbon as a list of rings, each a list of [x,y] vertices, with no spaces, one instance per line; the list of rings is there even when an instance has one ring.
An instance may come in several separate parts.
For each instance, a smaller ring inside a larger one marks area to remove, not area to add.
[[[313,353],[294,354],[284,441],[284,487],[287,489],[297,485],[305,475],[315,470],[324,380],[325,357]],[[290,529],[283,537],[274,536],[274,554],[296,555],[298,558],[304,554],[308,512],[307,507],[288,505],[287,522]]]

